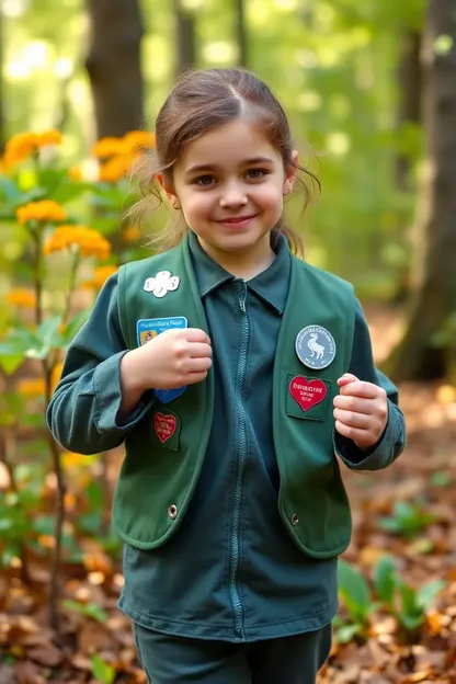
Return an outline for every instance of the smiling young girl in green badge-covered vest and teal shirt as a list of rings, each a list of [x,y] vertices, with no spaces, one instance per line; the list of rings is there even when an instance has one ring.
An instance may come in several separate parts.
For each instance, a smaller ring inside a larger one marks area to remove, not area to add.
[[[351,285],[292,254],[300,167],[269,88],[187,73],[156,133],[144,202],[159,183],[182,220],[106,282],[48,424],[82,454],[125,442],[119,607],[149,682],[312,684],[351,536],[339,461],[397,458],[397,390]]]

